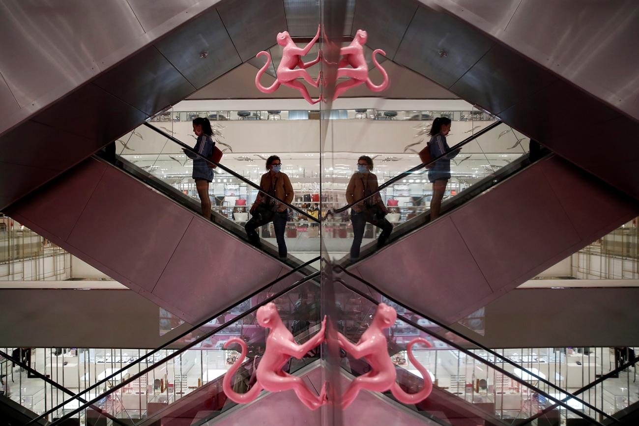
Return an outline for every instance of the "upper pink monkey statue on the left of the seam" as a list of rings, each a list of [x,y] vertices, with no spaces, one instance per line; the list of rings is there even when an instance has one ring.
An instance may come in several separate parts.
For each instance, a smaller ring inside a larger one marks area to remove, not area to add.
[[[319,62],[319,52],[317,59],[312,60],[311,62],[304,63],[302,62],[302,56],[305,56],[311,50],[311,47],[317,42],[319,38],[319,26],[318,33],[315,34],[314,38],[309,42],[304,49],[300,49],[297,47],[293,39],[288,34],[288,31],[284,31],[282,33],[277,34],[277,44],[284,46],[284,51],[282,52],[282,60],[277,66],[277,80],[273,82],[273,84],[269,87],[264,87],[259,83],[260,77],[265,73],[266,68],[271,62],[271,56],[268,52],[264,50],[259,52],[256,57],[261,55],[266,55],[266,64],[258,71],[258,74],[255,76],[255,86],[258,87],[258,90],[262,93],[273,93],[278,89],[281,84],[284,86],[293,87],[293,89],[298,89],[304,99],[314,105],[318,103],[321,99],[312,100],[311,95],[309,95],[309,91],[306,89],[306,86],[302,84],[302,82],[296,80],[302,77],[306,82],[311,84],[313,87],[319,87],[319,80],[321,79],[321,75],[319,75],[318,79],[314,81],[311,78],[311,75],[306,71],[306,68],[309,66],[313,66]],[[300,68],[295,68],[299,66]]]

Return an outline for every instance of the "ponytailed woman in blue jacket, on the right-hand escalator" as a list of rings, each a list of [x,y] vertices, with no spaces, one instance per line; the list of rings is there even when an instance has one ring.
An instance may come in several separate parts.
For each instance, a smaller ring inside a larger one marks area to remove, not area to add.
[[[431,151],[431,157],[436,158],[450,151],[446,143],[446,136],[450,132],[450,118],[438,117],[433,121],[431,126],[431,140],[428,142]],[[446,185],[450,179],[450,158],[454,158],[459,154],[461,149],[456,149],[451,153],[437,160],[433,167],[428,171],[428,180],[433,183],[433,197],[431,198],[431,220],[435,220],[442,208],[443,194],[446,191]]]

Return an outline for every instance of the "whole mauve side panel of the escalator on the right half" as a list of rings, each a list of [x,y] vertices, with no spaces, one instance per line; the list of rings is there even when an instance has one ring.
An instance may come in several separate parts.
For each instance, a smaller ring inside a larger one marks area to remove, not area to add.
[[[564,184],[553,188],[557,181]],[[571,194],[562,202],[564,191]],[[571,202],[581,194],[592,204]],[[551,157],[358,262],[353,272],[451,324],[638,214],[633,199]]]

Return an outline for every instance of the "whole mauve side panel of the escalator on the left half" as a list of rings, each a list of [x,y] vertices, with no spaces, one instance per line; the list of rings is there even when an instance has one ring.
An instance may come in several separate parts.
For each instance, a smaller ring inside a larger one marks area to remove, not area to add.
[[[78,170],[14,204],[8,215],[188,323],[286,270],[113,167],[91,158]]]

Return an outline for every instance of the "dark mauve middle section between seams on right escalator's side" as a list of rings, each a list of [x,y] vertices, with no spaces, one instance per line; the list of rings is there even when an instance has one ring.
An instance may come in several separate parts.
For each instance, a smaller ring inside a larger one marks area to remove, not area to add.
[[[581,241],[541,164],[477,197],[450,218],[493,291],[509,287],[531,268],[547,262],[553,250]]]

